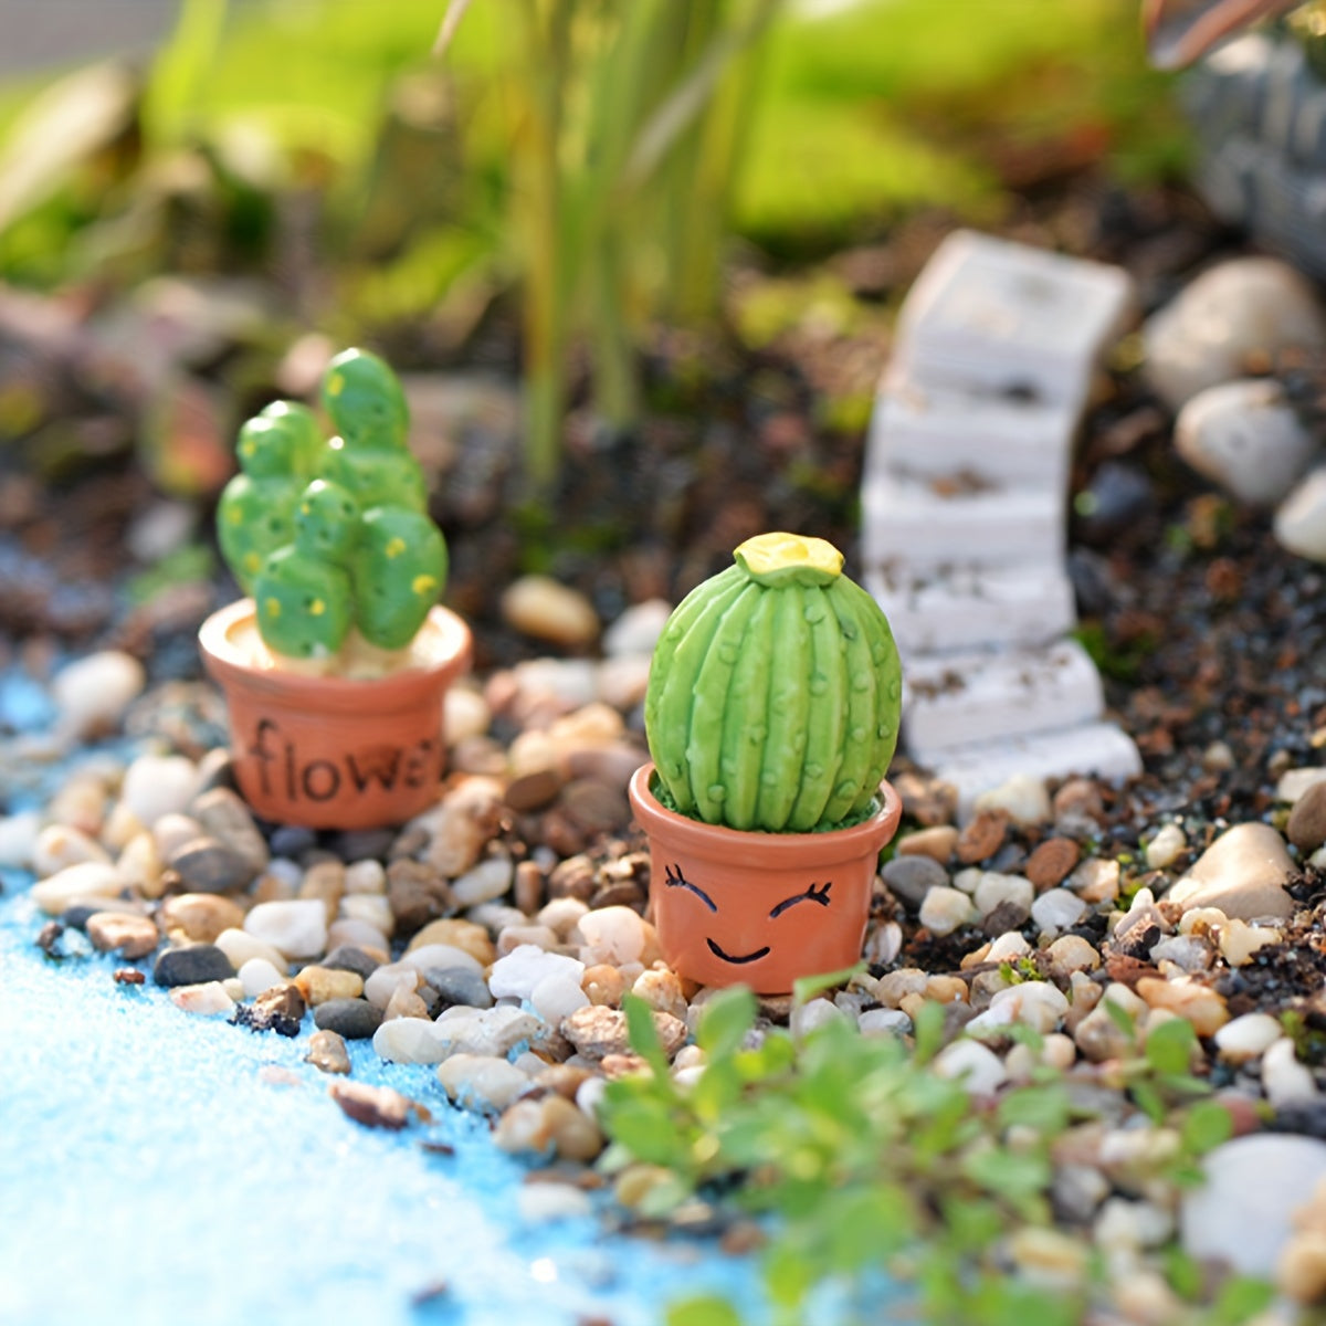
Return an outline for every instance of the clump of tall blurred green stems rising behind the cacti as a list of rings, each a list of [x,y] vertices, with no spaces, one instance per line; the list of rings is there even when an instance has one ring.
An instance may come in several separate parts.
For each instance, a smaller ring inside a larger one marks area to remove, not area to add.
[[[716,309],[756,50],[781,0],[501,3],[514,38],[500,76],[522,240],[526,477],[546,492],[573,339],[590,353],[597,414],[627,431],[644,325]],[[448,11],[444,37],[456,25]]]

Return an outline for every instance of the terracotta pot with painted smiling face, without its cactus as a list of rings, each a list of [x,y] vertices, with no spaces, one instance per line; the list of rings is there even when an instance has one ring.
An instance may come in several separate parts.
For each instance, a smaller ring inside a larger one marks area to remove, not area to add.
[[[850,829],[760,833],[666,809],[652,777],[652,764],[635,772],[631,809],[650,839],[654,924],[675,972],[785,994],[800,976],[861,960],[879,853],[902,817],[887,782],[879,812]]]

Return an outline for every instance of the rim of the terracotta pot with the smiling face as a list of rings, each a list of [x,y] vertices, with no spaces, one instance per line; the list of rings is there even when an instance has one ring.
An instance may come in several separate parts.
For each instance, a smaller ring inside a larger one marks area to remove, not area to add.
[[[831,865],[861,857],[870,850],[879,851],[898,831],[903,813],[902,797],[884,778],[879,784],[879,810],[869,819],[862,819],[861,823],[847,829],[830,829],[823,833],[731,829],[727,825],[709,825],[668,810],[650,786],[654,773],[652,760],[642,764],[631,774],[629,788],[631,809],[647,834],[667,837],[679,849],[693,851],[700,857],[721,861],[739,855],[743,862],[753,866],[786,865],[789,855],[809,857]]]

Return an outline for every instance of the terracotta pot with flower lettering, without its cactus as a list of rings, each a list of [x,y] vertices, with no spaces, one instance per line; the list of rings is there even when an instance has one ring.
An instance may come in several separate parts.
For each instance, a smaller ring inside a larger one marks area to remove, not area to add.
[[[438,800],[442,703],[469,666],[469,627],[444,607],[426,667],[351,680],[255,667],[253,601],[213,613],[199,633],[203,662],[225,693],[235,780],[264,819],[309,829],[402,823]]]

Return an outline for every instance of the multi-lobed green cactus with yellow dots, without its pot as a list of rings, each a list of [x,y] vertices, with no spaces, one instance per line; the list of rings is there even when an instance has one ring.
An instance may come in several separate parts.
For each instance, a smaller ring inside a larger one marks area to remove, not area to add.
[[[334,662],[361,642],[399,651],[447,578],[447,545],[406,450],[404,394],[382,359],[346,350],[328,366],[322,402],[330,439],[290,402],[240,430],[241,472],[217,508],[221,552],[274,655]]]

